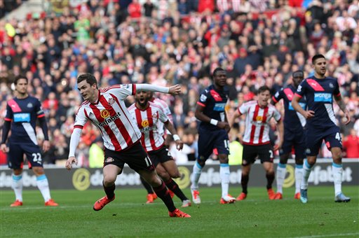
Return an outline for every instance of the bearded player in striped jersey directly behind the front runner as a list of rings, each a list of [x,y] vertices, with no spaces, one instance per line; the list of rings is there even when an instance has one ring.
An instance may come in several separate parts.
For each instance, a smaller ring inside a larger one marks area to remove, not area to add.
[[[156,172],[163,179],[167,188],[182,201],[182,207],[189,207],[191,201],[182,193],[177,183],[172,180],[172,178],[179,178],[180,174],[175,161],[165,146],[163,135],[160,134],[163,131],[163,125],[173,135],[177,150],[182,150],[183,142],[179,139],[175,127],[170,123],[168,116],[165,115],[161,107],[149,102],[151,97],[149,92],[137,90],[136,102],[128,108],[128,111],[142,132],[141,144],[149,154]]]

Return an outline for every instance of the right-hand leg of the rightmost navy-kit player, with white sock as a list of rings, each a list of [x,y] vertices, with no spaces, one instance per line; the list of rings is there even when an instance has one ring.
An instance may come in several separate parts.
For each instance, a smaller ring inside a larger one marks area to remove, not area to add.
[[[333,131],[337,128],[333,128]],[[341,192],[341,180],[343,174],[343,164],[341,163],[341,135],[339,130],[330,134],[328,137],[325,137],[325,144],[327,148],[332,152],[333,163],[332,163],[332,173],[333,173],[333,182],[334,182],[334,195],[335,202],[350,202],[351,198],[346,197]]]

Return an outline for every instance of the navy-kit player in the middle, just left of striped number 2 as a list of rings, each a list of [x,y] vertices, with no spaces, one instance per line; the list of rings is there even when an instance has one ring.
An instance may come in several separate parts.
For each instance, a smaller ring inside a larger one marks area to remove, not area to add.
[[[229,124],[224,111],[228,101],[226,90],[226,71],[217,68],[213,71],[213,84],[207,87],[197,102],[195,116],[201,121],[198,127],[198,158],[194,165],[191,177],[191,194],[194,204],[201,204],[198,192],[198,181],[205,161],[217,148],[219,158],[219,176],[222,183],[221,204],[233,203],[234,197],[228,194],[229,190]]]

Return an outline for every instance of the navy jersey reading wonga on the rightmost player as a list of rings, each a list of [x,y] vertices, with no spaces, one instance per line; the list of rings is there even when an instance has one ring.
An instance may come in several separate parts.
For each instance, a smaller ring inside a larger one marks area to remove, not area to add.
[[[326,129],[336,126],[333,111],[333,95],[339,96],[339,85],[335,78],[323,79],[312,76],[298,86],[296,94],[306,97],[308,109],[314,111],[314,117],[306,121],[310,128]]]

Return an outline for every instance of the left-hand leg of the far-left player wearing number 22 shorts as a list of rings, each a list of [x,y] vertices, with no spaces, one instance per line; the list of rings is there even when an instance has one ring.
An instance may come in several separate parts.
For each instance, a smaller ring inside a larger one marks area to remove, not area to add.
[[[11,207],[22,206],[22,166],[24,152],[19,144],[8,144],[8,167],[13,169],[12,187],[15,193],[15,202]]]

